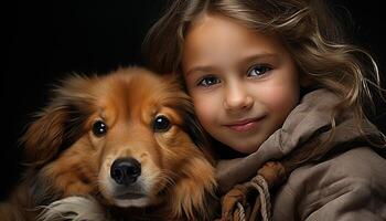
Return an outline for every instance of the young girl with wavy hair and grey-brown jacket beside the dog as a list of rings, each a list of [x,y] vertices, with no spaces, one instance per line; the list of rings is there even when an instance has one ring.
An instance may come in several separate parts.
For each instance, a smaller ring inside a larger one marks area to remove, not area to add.
[[[345,43],[324,3],[172,2],[144,52],[153,70],[182,76],[197,118],[222,144],[219,189],[289,159],[293,171],[270,192],[272,220],[386,220],[384,136],[365,116],[369,87],[380,90],[377,66]]]

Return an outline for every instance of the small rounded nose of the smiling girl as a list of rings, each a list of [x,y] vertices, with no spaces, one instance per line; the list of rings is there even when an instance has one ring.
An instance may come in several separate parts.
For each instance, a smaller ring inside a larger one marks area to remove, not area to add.
[[[227,110],[249,109],[254,98],[248,94],[243,84],[232,85],[224,97],[224,107]]]

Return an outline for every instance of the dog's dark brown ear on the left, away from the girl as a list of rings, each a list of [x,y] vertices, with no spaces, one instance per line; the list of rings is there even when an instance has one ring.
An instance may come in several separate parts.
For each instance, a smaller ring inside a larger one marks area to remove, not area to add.
[[[84,123],[90,114],[89,82],[74,75],[53,91],[52,102],[36,115],[21,138],[29,164],[44,165],[84,134]]]

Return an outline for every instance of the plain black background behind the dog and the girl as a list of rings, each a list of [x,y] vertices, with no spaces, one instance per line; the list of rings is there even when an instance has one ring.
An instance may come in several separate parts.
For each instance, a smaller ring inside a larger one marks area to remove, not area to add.
[[[165,0],[12,1],[2,7],[0,199],[20,177],[18,139],[50,90],[68,73],[106,73],[142,64],[140,48]],[[380,1],[334,0],[353,19],[356,43],[386,72],[385,12]],[[386,77],[384,77],[386,78]],[[386,81],[386,80],[384,80]],[[384,112],[379,107],[379,113]],[[386,115],[375,119],[385,131]]]

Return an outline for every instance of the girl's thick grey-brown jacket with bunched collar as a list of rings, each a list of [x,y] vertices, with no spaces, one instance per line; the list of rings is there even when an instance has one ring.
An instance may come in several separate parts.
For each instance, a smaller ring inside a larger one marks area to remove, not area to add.
[[[266,161],[288,156],[315,136],[328,140],[332,106],[337,102],[325,90],[307,94],[256,152],[218,162],[219,188],[226,192],[247,181]],[[330,150],[293,170],[271,196],[272,220],[386,220],[386,151],[364,138],[378,140],[380,133],[366,122],[361,134],[350,110],[335,120]]]

